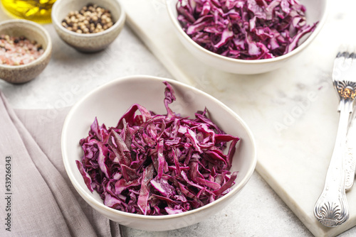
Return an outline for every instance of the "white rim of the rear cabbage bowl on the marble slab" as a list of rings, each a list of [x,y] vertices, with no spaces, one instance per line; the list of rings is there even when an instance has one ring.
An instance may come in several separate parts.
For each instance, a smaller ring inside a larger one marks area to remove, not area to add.
[[[187,35],[187,33],[185,33],[183,31],[183,29],[179,25],[179,22],[177,21],[177,19],[174,18],[174,14],[172,13],[172,8],[170,7],[170,4],[169,4],[171,1],[172,0],[166,0],[166,7],[167,7],[169,18],[171,19],[174,27],[177,28],[177,30],[179,31],[179,34],[182,35],[185,38],[185,40],[189,41],[189,43],[194,45],[194,47],[197,48],[198,50],[200,50],[201,53],[205,53],[205,54],[209,55],[209,57],[216,57],[221,60],[225,60],[227,62],[239,62],[239,63],[246,64],[246,65],[256,65],[256,64],[261,65],[261,64],[266,64],[266,63],[270,63],[270,62],[282,61],[282,60],[287,59],[288,57],[292,57],[293,55],[300,53],[300,51],[304,50],[304,48],[306,48],[314,40],[314,38],[320,33],[321,29],[323,28],[323,26],[325,24],[325,21],[328,18],[328,11],[329,11],[329,5],[330,5],[329,0],[324,0],[325,1],[325,10],[323,11],[323,15],[322,15],[318,25],[316,26],[313,33],[311,33],[309,35],[309,37],[301,45],[298,46],[298,48],[295,48],[294,50],[290,51],[289,53],[286,53],[285,55],[281,55],[278,57],[273,57],[273,58],[268,58],[268,59],[260,59],[260,60],[241,60],[241,59],[235,59],[235,58],[231,58],[231,57],[222,56],[217,53],[213,53],[213,52],[201,47],[194,40],[192,40],[192,38],[190,38],[189,35]]]

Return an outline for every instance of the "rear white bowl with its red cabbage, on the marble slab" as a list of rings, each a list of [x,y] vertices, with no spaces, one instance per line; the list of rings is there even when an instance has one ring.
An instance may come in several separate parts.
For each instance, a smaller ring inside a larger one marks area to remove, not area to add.
[[[276,70],[300,55],[327,15],[327,0],[166,3],[177,37],[197,60],[244,75]]]

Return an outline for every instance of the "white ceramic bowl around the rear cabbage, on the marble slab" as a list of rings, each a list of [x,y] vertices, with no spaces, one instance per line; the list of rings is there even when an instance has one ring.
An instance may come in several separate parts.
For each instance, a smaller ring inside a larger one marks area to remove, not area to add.
[[[307,48],[307,46],[315,39],[316,35],[318,35],[326,21],[328,0],[300,0],[300,3],[305,5],[307,9],[306,17],[308,23],[312,24],[319,21],[315,31],[311,33],[298,48],[290,53],[280,57],[263,60],[237,60],[212,53],[211,51],[206,50],[195,43],[194,40],[192,40],[192,38],[190,38],[187,33],[182,30],[182,27],[177,20],[177,1],[178,0],[166,0],[167,10],[169,18],[172,20],[174,31],[177,33],[179,40],[187,48],[187,50],[189,50],[189,52],[197,57],[197,59],[201,62],[204,62],[206,65],[210,65],[211,67],[215,67],[216,69],[236,74],[251,75],[281,68],[286,65],[287,62],[293,60],[305,48]]]

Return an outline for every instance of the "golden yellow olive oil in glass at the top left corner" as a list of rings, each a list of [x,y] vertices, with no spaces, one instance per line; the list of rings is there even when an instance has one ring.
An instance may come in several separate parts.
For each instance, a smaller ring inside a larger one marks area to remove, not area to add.
[[[51,22],[51,10],[56,0],[1,0],[4,9],[15,18],[38,23]]]

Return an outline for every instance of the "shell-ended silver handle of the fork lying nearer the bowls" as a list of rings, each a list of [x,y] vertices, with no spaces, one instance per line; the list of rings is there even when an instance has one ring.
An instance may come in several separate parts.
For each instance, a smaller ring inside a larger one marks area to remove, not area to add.
[[[347,123],[352,111],[352,101],[341,99],[339,110],[340,121],[333,155],[326,173],[323,192],[314,207],[316,219],[328,227],[340,226],[349,218],[345,194],[345,170],[342,167],[342,160],[345,153]]]

